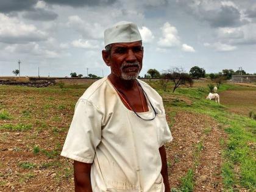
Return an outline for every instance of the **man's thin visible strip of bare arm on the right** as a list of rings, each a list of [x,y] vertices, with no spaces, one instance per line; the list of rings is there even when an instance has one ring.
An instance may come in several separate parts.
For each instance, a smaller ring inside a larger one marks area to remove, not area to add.
[[[163,176],[163,183],[165,184],[165,192],[170,192],[170,186],[169,186],[169,179],[168,179],[168,167],[167,167],[167,161],[166,161],[166,151],[165,146],[162,146],[159,148],[161,160],[162,160],[162,169],[161,174]]]

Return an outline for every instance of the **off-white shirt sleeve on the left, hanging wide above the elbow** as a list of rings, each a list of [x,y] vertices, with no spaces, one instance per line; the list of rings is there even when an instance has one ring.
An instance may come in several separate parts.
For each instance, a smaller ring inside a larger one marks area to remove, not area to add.
[[[101,121],[99,110],[90,101],[79,99],[60,155],[93,163],[95,149],[101,142]]]

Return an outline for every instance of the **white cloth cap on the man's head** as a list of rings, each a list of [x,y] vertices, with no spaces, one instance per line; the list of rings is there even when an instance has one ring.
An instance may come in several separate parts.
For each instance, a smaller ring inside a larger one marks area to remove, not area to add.
[[[116,23],[104,32],[105,46],[111,43],[129,43],[141,41],[141,35],[136,24],[129,21]]]

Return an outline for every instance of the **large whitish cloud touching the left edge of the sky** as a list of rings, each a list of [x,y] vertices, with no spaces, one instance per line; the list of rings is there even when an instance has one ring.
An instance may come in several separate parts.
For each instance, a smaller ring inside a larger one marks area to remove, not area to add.
[[[4,43],[28,43],[47,39],[45,32],[32,24],[24,24],[16,18],[0,13],[0,41]]]

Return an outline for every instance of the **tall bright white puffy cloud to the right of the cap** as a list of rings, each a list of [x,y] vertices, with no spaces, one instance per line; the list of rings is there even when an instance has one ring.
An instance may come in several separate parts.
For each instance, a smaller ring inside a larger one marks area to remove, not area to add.
[[[171,48],[180,45],[180,38],[176,27],[166,22],[163,27],[161,27],[161,30],[163,37],[158,41],[159,46]]]

